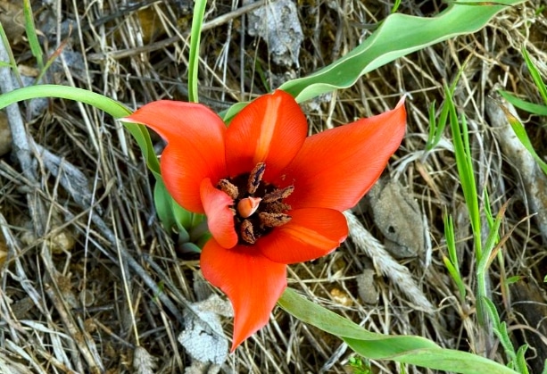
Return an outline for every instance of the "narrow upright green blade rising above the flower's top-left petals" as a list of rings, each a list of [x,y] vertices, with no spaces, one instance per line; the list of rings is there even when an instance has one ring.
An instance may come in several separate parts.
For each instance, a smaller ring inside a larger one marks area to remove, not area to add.
[[[190,32],[190,58],[188,61],[188,101],[198,102],[198,71],[199,71],[199,46],[202,37],[203,16],[207,0],[196,0],[192,17],[192,30]]]

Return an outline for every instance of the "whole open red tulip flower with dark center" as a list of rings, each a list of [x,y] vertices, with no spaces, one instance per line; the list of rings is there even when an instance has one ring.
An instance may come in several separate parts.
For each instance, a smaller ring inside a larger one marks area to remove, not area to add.
[[[324,256],[347,237],[342,212],[376,182],[399,147],[403,102],[389,112],[308,135],[284,91],[264,95],[227,127],[202,104],[156,101],[124,121],[160,134],[162,178],[175,201],[205,213],[203,276],[234,307],[232,351],[269,320],[286,265]]]

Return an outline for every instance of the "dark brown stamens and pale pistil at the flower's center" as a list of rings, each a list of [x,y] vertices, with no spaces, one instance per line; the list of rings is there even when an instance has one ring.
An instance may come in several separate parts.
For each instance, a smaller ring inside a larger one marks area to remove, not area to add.
[[[262,182],[266,163],[259,162],[250,173],[235,178],[220,179],[217,188],[234,199],[232,211],[239,244],[253,245],[273,228],[285,225],[291,216],[289,204],[283,200],[294,186],[278,188]]]

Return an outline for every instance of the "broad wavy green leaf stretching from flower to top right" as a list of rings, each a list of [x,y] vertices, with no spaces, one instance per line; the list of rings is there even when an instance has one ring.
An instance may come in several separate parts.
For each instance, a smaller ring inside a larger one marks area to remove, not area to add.
[[[523,0],[503,0],[484,5],[459,1],[433,18],[395,13],[385,18],[380,27],[344,57],[308,77],[286,82],[280,88],[299,103],[337,88],[351,87],[363,74],[397,58],[434,45],[451,37],[482,29],[492,17],[507,9],[504,5]],[[473,4],[473,5],[472,5]],[[402,32],[404,30],[404,32]]]

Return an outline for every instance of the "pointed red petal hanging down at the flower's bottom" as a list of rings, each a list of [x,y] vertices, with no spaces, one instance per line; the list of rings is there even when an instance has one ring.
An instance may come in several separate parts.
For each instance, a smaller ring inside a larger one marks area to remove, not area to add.
[[[214,239],[203,246],[200,262],[203,277],[220,287],[234,307],[233,352],[268,323],[286,288],[286,265],[269,261],[254,246],[227,249]]]

